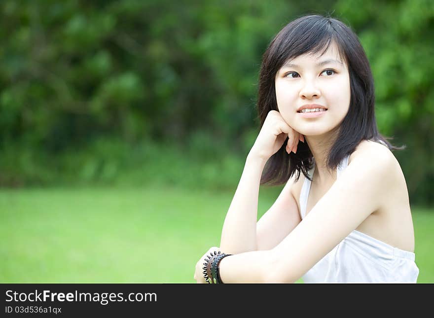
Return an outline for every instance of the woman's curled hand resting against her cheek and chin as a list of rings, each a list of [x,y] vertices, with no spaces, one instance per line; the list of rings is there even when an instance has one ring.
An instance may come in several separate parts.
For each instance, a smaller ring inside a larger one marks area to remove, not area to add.
[[[304,136],[289,127],[280,112],[270,110],[249,155],[268,160],[282,147],[287,137],[287,152],[296,153],[298,141],[304,142]]]

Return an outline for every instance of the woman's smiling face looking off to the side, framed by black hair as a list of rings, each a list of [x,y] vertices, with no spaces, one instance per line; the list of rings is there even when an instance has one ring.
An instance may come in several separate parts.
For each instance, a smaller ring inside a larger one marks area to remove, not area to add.
[[[287,61],[277,72],[275,85],[279,112],[292,129],[305,136],[339,127],[350,106],[350,75],[334,42],[321,57],[303,54]],[[326,110],[300,111],[309,105]]]

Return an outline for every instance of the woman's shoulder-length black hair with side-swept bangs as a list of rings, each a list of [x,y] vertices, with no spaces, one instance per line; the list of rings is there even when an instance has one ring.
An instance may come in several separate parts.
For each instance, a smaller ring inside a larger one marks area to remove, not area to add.
[[[353,31],[339,20],[320,15],[300,17],[285,26],[271,41],[265,51],[259,73],[257,110],[260,128],[270,110],[278,110],[275,75],[283,64],[305,53],[325,53],[330,43],[337,44],[339,55],[348,67],[351,99],[347,115],[337,131],[336,140],[326,155],[330,171],[351,154],[362,140],[383,143],[390,150],[395,147],[379,134],[374,113],[374,80],[363,47]],[[388,138],[391,139],[391,138]],[[286,152],[288,138],[272,155],[264,168],[260,184],[279,185],[300,171],[311,180],[308,171],[313,167],[313,155],[307,143],[299,142],[297,153]]]

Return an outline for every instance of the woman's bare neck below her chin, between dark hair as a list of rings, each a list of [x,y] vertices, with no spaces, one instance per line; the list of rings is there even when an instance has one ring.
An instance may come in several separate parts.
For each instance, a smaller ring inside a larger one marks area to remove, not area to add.
[[[327,183],[336,178],[336,172],[330,171],[326,165],[326,156],[333,145],[336,132],[327,132],[324,135],[305,136],[305,140],[315,158],[314,180],[318,183]]]

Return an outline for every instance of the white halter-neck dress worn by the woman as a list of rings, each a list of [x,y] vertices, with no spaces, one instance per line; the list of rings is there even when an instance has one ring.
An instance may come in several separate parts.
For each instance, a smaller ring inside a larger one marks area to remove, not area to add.
[[[339,164],[337,176],[348,166],[349,155]],[[312,178],[314,166],[309,171]],[[306,214],[311,181],[305,178],[300,193],[301,218]],[[416,283],[419,268],[415,254],[393,247],[360,231],[352,231],[316,263],[304,283]]]

